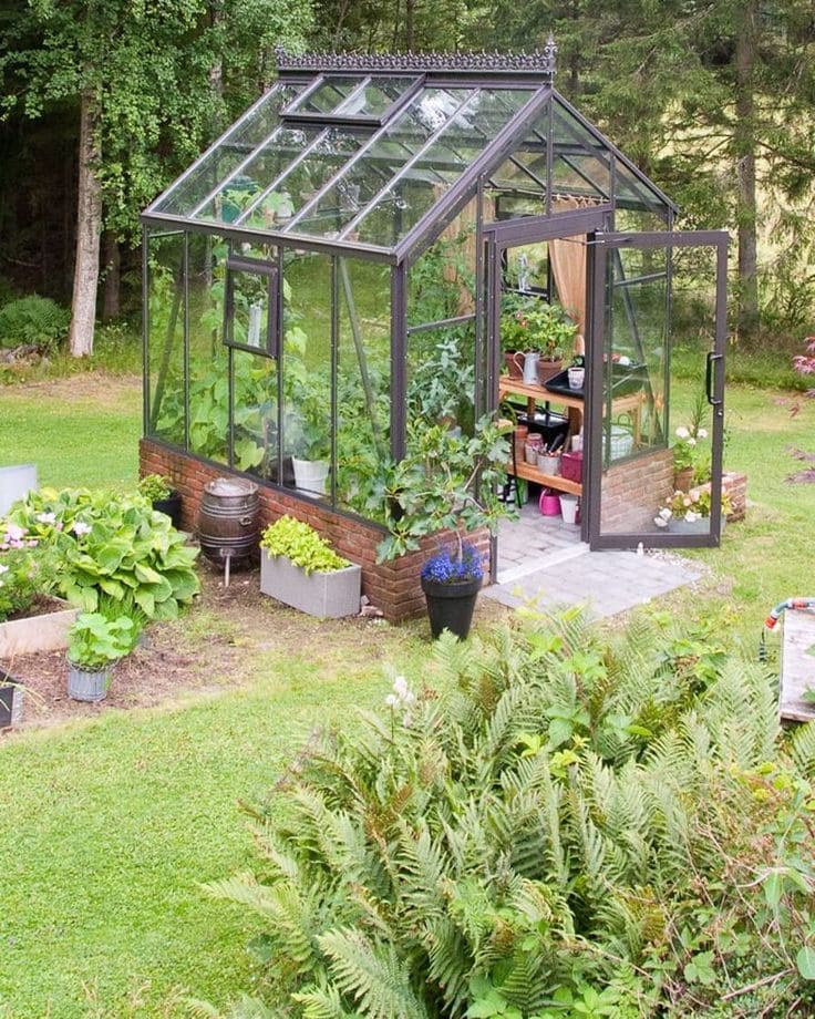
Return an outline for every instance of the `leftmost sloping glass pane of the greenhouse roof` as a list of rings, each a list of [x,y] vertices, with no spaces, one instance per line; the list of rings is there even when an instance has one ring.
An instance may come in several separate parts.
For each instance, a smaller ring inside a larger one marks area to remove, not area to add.
[[[245,120],[239,120],[199,166],[156,207],[174,216],[188,216],[208,194],[233,173],[279,121],[279,110],[300,91],[299,85],[275,85],[264,102]]]

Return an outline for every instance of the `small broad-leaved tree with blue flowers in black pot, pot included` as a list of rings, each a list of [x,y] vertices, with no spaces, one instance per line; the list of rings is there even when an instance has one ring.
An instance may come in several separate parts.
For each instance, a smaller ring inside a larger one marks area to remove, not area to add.
[[[392,465],[385,481],[386,504],[398,504],[401,515],[388,514],[389,534],[379,546],[380,562],[419,549],[430,535],[451,535],[447,552],[431,556],[420,575],[429,613],[433,614],[434,637],[441,632],[436,598],[444,599],[444,611],[454,620],[456,636],[464,638],[470,631],[483,563],[465,535],[483,527],[495,533],[503,517],[516,513],[501,498],[508,459],[504,432],[488,416],[477,422],[472,438],[455,435],[440,425],[414,426],[407,455]]]

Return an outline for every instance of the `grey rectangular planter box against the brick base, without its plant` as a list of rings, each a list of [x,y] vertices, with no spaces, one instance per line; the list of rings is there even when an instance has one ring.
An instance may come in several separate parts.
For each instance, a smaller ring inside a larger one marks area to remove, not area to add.
[[[353,564],[345,569],[307,575],[285,556],[272,557],[261,549],[260,590],[310,616],[357,616],[361,586],[362,570]]]

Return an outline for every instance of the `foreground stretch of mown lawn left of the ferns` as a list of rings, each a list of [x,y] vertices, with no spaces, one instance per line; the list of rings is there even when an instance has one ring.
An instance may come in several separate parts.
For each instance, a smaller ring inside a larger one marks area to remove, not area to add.
[[[426,653],[389,628],[383,640]],[[3,1019],[180,1016],[183,994],[249,987],[246,914],[199,883],[252,863],[238,800],[261,796],[313,725],[385,689],[378,663],[351,675],[341,656],[258,669],[245,690],[0,747]]]

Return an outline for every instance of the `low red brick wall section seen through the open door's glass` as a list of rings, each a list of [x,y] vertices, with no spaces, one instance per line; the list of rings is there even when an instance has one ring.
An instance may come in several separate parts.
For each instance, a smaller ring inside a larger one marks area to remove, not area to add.
[[[673,492],[673,450],[657,450],[609,467],[602,475],[605,533],[653,531],[660,503]]]

